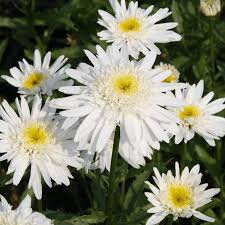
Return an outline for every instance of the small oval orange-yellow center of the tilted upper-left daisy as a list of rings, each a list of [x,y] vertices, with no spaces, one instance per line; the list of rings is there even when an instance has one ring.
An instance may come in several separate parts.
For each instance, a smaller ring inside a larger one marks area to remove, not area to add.
[[[43,82],[44,79],[45,79],[45,75],[42,73],[29,74],[23,82],[23,87],[25,89],[36,88]]]

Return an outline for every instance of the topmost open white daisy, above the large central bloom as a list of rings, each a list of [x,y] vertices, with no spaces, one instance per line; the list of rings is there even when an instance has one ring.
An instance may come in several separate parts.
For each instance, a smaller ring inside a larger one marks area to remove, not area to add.
[[[160,54],[160,50],[155,43],[167,43],[180,41],[181,36],[172,28],[177,23],[158,23],[168,17],[171,12],[168,8],[159,9],[155,14],[150,15],[153,6],[142,9],[138,7],[138,2],[130,2],[126,7],[125,0],[109,0],[115,17],[99,10],[101,19],[98,23],[106,28],[98,33],[101,40],[113,43],[119,48],[127,48],[128,53],[134,58],[138,57],[139,52],[147,54],[149,49]]]

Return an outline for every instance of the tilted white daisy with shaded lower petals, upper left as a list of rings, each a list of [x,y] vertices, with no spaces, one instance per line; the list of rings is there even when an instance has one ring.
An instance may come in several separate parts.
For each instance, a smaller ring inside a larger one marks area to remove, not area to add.
[[[61,86],[72,85],[72,80],[65,80],[68,76],[65,69],[70,65],[64,65],[67,58],[60,56],[51,66],[51,52],[48,52],[43,62],[38,50],[34,52],[34,64],[30,65],[25,59],[19,62],[19,68],[11,68],[10,76],[3,75],[2,78],[18,88],[18,93],[23,95],[46,94],[52,95],[52,91]]]

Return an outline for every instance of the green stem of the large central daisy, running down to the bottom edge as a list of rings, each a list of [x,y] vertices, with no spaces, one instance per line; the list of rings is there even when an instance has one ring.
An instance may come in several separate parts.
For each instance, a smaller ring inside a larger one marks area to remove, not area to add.
[[[113,152],[112,152],[112,159],[111,159],[111,168],[110,168],[110,175],[109,175],[109,188],[108,194],[106,199],[106,216],[107,221],[106,225],[112,225],[112,216],[113,216],[113,196],[116,189],[116,164],[118,158],[118,149],[119,149],[119,141],[120,141],[120,128],[117,126],[115,135],[114,135],[114,142],[113,142]]]

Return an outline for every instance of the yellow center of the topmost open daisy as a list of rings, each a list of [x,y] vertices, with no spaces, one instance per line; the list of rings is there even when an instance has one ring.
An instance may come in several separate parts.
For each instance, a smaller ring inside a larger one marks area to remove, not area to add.
[[[122,32],[138,32],[141,28],[141,23],[137,18],[130,17],[122,20],[118,24],[118,28]]]

